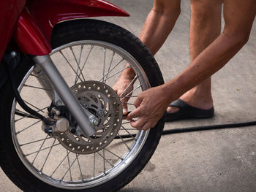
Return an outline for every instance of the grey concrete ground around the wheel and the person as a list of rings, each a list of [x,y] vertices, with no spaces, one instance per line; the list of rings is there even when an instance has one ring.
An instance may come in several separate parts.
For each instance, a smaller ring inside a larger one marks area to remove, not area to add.
[[[153,0],[112,0],[130,18],[101,18],[140,34]],[[189,64],[189,1],[156,55],[165,81]],[[212,78],[211,120],[166,123],[165,130],[256,120],[256,22],[249,42]],[[0,172],[0,191],[20,191]],[[163,136],[145,169],[122,192],[256,191],[256,126]]]

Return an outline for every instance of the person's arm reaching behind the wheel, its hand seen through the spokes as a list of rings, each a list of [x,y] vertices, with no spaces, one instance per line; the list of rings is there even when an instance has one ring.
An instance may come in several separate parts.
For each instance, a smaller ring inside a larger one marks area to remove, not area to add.
[[[180,4],[180,0],[154,1],[154,7],[149,12],[139,37],[153,55],[162,47],[170,31],[172,31],[181,12]],[[135,77],[135,73],[130,68],[121,73],[116,84],[113,85],[113,89],[117,92],[118,96],[127,88],[133,77]],[[130,88],[132,90],[132,86]],[[127,90],[127,93],[129,93],[129,90]],[[123,99],[122,101],[127,102],[127,100]],[[122,104],[122,107],[123,113],[126,115],[128,112],[127,105]]]

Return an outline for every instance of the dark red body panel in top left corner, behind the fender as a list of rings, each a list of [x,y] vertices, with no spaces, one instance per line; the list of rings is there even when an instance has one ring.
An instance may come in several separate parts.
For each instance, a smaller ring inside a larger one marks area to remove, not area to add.
[[[25,4],[26,0],[0,0],[0,61]]]

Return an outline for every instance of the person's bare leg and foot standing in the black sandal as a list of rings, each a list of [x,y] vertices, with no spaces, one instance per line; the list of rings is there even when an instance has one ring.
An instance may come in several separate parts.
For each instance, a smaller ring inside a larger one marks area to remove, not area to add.
[[[222,0],[191,0],[191,19],[189,31],[190,61],[199,55],[221,32]],[[209,110],[213,107],[211,97],[211,78],[192,88],[181,99],[187,104]],[[168,107],[167,112],[178,108]]]

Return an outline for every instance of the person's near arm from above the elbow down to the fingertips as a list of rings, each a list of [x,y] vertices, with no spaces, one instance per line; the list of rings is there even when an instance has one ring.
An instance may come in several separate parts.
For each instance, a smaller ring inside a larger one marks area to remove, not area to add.
[[[223,12],[224,31],[187,69],[165,85],[140,93],[135,101],[137,109],[127,117],[128,120],[139,118],[132,120],[133,127],[143,130],[154,127],[171,101],[225,66],[246,44],[255,19],[255,0],[225,0]]]

